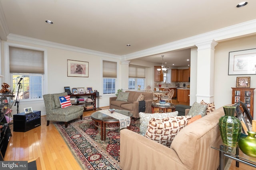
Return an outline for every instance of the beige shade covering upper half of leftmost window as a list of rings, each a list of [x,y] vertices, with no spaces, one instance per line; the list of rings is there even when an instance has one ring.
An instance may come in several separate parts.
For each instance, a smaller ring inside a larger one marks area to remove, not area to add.
[[[44,74],[44,51],[9,47],[10,72]]]

